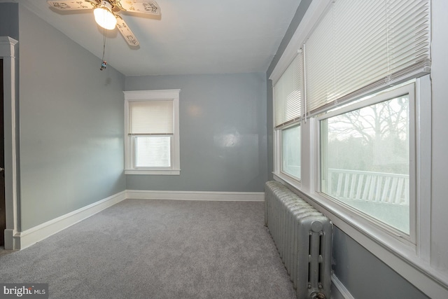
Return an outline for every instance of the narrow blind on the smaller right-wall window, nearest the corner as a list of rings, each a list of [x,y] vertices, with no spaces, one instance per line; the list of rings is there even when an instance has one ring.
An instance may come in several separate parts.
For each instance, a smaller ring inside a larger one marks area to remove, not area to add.
[[[276,129],[300,120],[303,87],[303,54],[299,53],[274,85]]]

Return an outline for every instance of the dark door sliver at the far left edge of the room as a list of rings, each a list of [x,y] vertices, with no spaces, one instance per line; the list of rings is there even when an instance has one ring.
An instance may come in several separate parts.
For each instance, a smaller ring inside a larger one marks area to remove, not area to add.
[[[3,59],[0,58],[0,246],[5,246],[5,138],[3,130]]]

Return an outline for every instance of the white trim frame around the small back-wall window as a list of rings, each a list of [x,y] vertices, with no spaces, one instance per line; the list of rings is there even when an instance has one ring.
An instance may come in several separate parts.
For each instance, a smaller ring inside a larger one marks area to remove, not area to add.
[[[180,138],[179,138],[179,93],[176,90],[135,90],[125,91],[125,174],[180,175]],[[174,134],[172,138],[172,166],[167,168],[135,168],[132,165],[132,137],[128,132],[129,102],[172,100],[174,113]]]

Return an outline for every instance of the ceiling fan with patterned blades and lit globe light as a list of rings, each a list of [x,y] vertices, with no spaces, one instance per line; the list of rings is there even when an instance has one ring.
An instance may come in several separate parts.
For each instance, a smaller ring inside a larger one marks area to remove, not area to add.
[[[131,29],[127,27],[125,20],[118,13],[120,11],[127,11],[130,13],[160,15],[160,6],[153,0],[48,0],[47,3],[61,11],[93,9],[97,24],[109,30],[118,27],[118,30],[130,46],[139,46],[139,41],[137,41]]]

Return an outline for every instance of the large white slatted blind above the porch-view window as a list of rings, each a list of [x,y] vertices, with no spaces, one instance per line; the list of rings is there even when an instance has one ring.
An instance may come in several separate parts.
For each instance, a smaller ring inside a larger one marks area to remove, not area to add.
[[[307,114],[430,71],[429,0],[336,0],[305,42]]]

